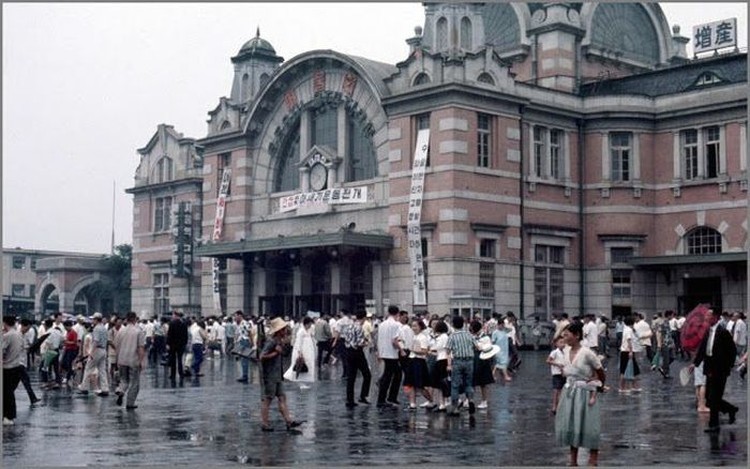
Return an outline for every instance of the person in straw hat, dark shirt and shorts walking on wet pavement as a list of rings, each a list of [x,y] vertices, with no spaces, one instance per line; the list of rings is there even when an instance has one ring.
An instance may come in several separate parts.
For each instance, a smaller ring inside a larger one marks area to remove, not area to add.
[[[284,366],[282,357],[291,354],[289,344],[289,325],[281,318],[271,320],[268,328],[266,342],[263,345],[263,351],[260,355],[260,383],[261,383],[261,407],[260,407],[260,429],[264,432],[272,432],[273,427],[269,422],[268,412],[271,408],[271,401],[277,398],[279,401],[279,413],[286,422],[286,429],[290,431],[302,425],[302,422],[293,420],[289,415],[289,408],[286,405],[286,394],[281,383],[284,380]]]

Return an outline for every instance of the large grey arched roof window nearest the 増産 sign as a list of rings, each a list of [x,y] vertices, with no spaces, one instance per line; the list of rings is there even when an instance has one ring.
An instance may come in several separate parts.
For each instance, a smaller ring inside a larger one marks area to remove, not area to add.
[[[601,3],[591,21],[591,45],[627,59],[659,62],[659,36],[643,6]]]

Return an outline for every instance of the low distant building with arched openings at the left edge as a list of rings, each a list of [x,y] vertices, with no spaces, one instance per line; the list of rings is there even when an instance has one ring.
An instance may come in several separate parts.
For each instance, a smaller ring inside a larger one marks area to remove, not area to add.
[[[89,288],[101,279],[105,254],[21,248],[2,254],[3,314],[40,318],[57,311],[111,311],[107,299]]]

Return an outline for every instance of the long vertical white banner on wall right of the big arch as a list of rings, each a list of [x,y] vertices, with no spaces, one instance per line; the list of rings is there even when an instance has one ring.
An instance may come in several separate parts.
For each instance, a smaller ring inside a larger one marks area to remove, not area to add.
[[[406,239],[409,243],[409,263],[411,265],[413,306],[427,305],[427,288],[424,282],[424,259],[422,258],[422,194],[424,193],[424,170],[427,166],[427,150],[430,146],[430,129],[417,133],[417,147],[414,150],[414,164],[411,172],[411,192],[409,194],[409,218],[406,223]]]

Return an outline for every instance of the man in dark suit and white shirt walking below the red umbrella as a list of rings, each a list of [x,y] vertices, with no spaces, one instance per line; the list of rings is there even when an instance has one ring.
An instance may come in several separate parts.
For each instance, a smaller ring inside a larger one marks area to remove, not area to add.
[[[737,406],[724,400],[724,387],[727,384],[727,377],[732,372],[737,349],[732,335],[718,324],[721,314],[714,310],[709,310],[706,314],[711,328],[701,341],[698,353],[690,367],[692,371],[694,366],[700,366],[703,363],[703,374],[706,375],[706,404],[711,409],[708,428],[704,431],[718,433],[719,413],[729,414],[729,423],[732,424],[739,411]]]

